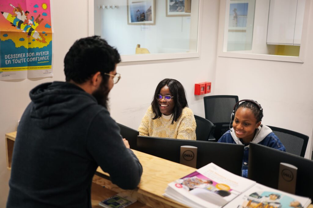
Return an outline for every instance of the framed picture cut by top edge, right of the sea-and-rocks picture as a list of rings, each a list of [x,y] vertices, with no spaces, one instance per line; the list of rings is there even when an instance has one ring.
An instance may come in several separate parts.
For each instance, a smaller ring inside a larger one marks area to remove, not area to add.
[[[166,16],[167,17],[183,17],[190,16],[185,12],[186,0],[166,0]]]

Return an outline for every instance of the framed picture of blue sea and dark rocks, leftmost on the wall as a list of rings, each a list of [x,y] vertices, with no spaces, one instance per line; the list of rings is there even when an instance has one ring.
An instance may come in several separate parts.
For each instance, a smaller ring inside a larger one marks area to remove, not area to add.
[[[155,0],[127,0],[127,24],[154,25]]]

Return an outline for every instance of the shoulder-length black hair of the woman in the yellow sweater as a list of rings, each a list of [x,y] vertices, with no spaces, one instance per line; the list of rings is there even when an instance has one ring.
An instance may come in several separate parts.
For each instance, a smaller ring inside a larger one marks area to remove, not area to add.
[[[170,89],[170,92],[173,96],[172,99],[174,99],[175,101],[172,115],[172,123],[174,123],[174,121],[177,121],[179,116],[182,114],[182,109],[188,107],[188,104],[184,87],[179,81],[173,79],[164,79],[156,86],[156,91],[153,95],[153,99],[151,102],[152,111],[154,114],[154,117],[152,119],[157,119],[162,116],[162,113],[159,109],[158,100],[156,99],[156,95],[160,94],[162,87],[164,87],[165,85],[167,85],[167,87]]]

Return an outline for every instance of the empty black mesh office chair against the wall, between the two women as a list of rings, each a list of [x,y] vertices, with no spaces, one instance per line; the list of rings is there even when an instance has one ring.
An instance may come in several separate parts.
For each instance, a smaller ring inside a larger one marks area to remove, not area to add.
[[[212,135],[218,140],[229,130],[230,116],[234,105],[239,101],[237,95],[212,95],[203,97],[205,118],[214,126]]]

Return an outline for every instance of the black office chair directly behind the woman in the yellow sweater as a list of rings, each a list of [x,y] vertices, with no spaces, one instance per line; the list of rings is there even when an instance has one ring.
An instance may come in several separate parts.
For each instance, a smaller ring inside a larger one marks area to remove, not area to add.
[[[215,142],[215,138],[210,137],[213,123],[208,119],[194,115],[197,123],[196,136],[198,141]]]

